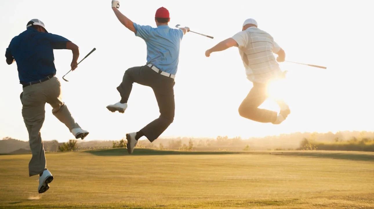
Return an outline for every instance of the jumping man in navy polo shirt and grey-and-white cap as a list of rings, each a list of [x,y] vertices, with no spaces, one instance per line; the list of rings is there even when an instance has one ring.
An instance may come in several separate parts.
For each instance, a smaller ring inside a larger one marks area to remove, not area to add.
[[[23,86],[21,93],[22,116],[28,130],[31,153],[28,164],[29,175],[39,175],[39,193],[49,189],[53,180],[46,167],[43,141],[40,136],[45,116],[45,104],[52,106],[52,113],[64,123],[75,138],[85,138],[88,131],[83,130],[61,101],[61,84],[54,77],[56,68],[53,49],[70,49],[73,52],[71,70],[77,68],[78,46],[62,36],[48,33],[44,23],[32,19],[26,25],[27,30],[14,37],[6,49],[6,62],[17,63],[19,81]]]

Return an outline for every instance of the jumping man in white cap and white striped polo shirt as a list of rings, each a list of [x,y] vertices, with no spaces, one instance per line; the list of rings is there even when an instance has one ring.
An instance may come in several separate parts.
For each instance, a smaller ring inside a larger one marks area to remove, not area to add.
[[[240,104],[240,116],[257,122],[280,124],[290,113],[285,102],[276,100],[281,108],[279,114],[275,111],[260,109],[258,106],[268,98],[269,82],[285,77],[278,62],[285,61],[286,55],[273,37],[258,29],[257,25],[254,19],[246,19],[242,31],[206,50],[205,56],[209,57],[212,52],[223,51],[232,46],[238,47],[247,78],[253,82],[252,89]],[[276,59],[273,53],[278,55]]]

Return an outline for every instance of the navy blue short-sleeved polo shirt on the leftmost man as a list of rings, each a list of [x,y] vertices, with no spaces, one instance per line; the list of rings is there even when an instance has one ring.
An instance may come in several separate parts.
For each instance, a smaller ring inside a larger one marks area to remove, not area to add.
[[[5,56],[10,60],[15,59],[21,84],[37,81],[56,74],[53,49],[66,49],[68,41],[62,36],[28,27],[12,39]]]

